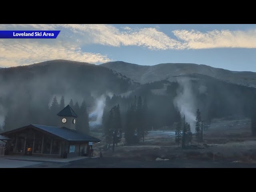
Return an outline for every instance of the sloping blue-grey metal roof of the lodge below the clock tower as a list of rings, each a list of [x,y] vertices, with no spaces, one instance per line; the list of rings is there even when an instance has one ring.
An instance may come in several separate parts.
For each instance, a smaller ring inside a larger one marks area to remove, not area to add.
[[[66,139],[68,141],[92,141],[92,142],[100,142],[99,139],[87,135],[87,134],[82,134],[77,131],[70,130],[66,127],[51,127],[51,126],[44,126],[44,125],[34,125],[32,126],[39,128],[41,130],[44,130],[48,133],[54,134],[56,136],[59,136],[63,139]]]

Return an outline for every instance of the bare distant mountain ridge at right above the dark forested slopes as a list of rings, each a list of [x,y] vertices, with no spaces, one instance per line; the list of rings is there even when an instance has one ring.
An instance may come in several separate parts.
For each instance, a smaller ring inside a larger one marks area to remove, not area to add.
[[[142,84],[158,80],[173,80],[184,74],[203,74],[226,82],[256,87],[255,72],[237,72],[192,63],[163,63],[142,66],[122,61],[101,64]]]

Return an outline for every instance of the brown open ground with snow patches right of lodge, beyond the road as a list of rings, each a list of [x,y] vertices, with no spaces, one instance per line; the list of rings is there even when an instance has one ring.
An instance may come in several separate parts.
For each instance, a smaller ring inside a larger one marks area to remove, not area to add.
[[[99,156],[99,147],[94,146],[94,155]],[[251,136],[250,120],[213,120],[204,131],[204,142],[192,142],[189,149],[181,149],[174,141],[174,131],[158,130],[149,132],[144,143],[126,146],[119,144],[112,149],[102,150],[108,158],[155,161],[156,158],[170,160],[204,160],[208,162],[256,163],[256,138]]]

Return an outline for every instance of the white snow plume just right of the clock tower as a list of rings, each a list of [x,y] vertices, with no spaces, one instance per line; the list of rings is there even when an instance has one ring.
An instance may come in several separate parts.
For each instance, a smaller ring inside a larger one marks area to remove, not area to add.
[[[89,114],[89,125],[99,126],[102,124],[103,110],[105,106],[106,95],[103,94],[99,98],[96,98],[96,106],[94,106],[92,112]]]

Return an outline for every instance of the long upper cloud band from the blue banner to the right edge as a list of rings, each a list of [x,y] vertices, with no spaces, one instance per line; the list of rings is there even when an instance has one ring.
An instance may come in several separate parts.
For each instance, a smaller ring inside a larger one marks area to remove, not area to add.
[[[157,27],[122,27],[122,30],[105,24],[60,24],[58,27],[81,35],[84,43],[106,46],[142,46],[150,50],[256,48],[256,30],[174,30],[176,38],[171,38]]]

